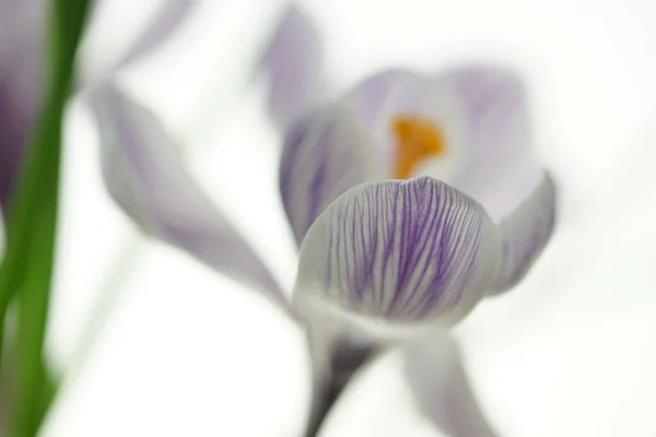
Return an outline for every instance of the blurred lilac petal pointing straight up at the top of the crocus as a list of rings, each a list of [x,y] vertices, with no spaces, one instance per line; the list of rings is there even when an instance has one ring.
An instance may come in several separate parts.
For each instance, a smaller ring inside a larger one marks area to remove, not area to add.
[[[323,49],[317,29],[298,5],[288,7],[262,68],[268,83],[271,117],[281,129],[318,104],[323,97]]]

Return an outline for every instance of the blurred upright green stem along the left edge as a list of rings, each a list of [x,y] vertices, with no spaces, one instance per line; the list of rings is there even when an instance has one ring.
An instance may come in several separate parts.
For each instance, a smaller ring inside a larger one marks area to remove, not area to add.
[[[36,435],[54,391],[44,362],[44,339],[55,262],[61,125],[87,0],[55,0],[52,5],[48,95],[9,211],[7,258],[0,271],[2,328],[9,303],[20,293],[11,423],[16,437]]]

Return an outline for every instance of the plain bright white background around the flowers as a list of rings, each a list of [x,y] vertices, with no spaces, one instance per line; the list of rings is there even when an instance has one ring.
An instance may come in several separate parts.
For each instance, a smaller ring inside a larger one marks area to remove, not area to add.
[[[90,75],[160,2],[98,3],[82,48]],[[337,92],[393,66],[495,60],[525,75],[537,153],[562,192],[560,223],[527,280],[457,329],[468,370],[502,436],[655,436],[656,3],[300,3],[323,33]],[[284,4],[199,0],[175,37],[121,80],[179,137],[203,187],[290,288],[281,141],[254,72]],[[105,192],[81,99],[70,105],[66,141],[48,349],[72,370],[43,435],[300,435],[309,397],[302,333],[239,284],[140,236]],[[90,321],[96,305],[106,310]],[[105,324],[80,349],[90,323]],[[399,364],[394,353],[375,363],[324,435],[438,436]]]

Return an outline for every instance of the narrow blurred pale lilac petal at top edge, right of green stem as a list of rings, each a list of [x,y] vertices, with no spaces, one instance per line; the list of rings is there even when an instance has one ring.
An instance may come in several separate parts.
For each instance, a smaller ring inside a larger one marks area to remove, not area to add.
[[[117,63],[117,70],[136,62],[164,43],[185,22],[195,0],[166,0],[157,15]]]

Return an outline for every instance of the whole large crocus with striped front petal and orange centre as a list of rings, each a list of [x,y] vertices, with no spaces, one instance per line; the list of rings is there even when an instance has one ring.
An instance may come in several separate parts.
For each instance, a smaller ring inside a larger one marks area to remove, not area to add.
[[[307,330],[314,435],[335,391],[373,353],[444,332],[523,279],[551,236],[555,189],[530,155],[525,92],[514,73],[490,66],[437,76],[394,70],[328,101],[313,94],[323,90],[307,76],[315,68],[302,68],[306,78],[296,82],[289,58],[277,63],[289,55],[281,40],[293,42],[294,28],[312,29],[296,12],[283,21],[292,31],[281,29],[265,57],[270,83],[280,86],[269,104],[281,110],[280,190],[300,246],[292,305],[211,205],[154,115],[114,83],[92,103],[105,181],[126,213],[149,235],[272,298]],[[296,55],[302,63],[304,54]],[[293,83],[308,86],[298,93]],[[459,354],[449,356],[445,365],[459,371]],[[476,400],[461,376],[449,390],[467,400],[459,413],[469,414]],[[475,435],[448,426],[456,436]]]

